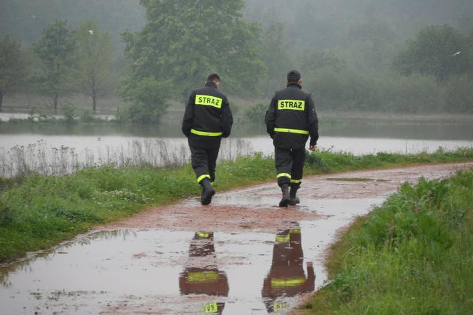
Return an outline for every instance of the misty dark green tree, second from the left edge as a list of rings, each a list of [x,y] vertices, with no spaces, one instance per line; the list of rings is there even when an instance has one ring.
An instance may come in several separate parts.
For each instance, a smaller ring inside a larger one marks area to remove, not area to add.
[[[43,95],[53,99],[55,111],[59,95],[71,93],[70,77],[75,50],[76,37],[68,29],[67,21],[56,21],[46,26],[40,40],[34,44],[34,53],[43,68],[34,81]]]

